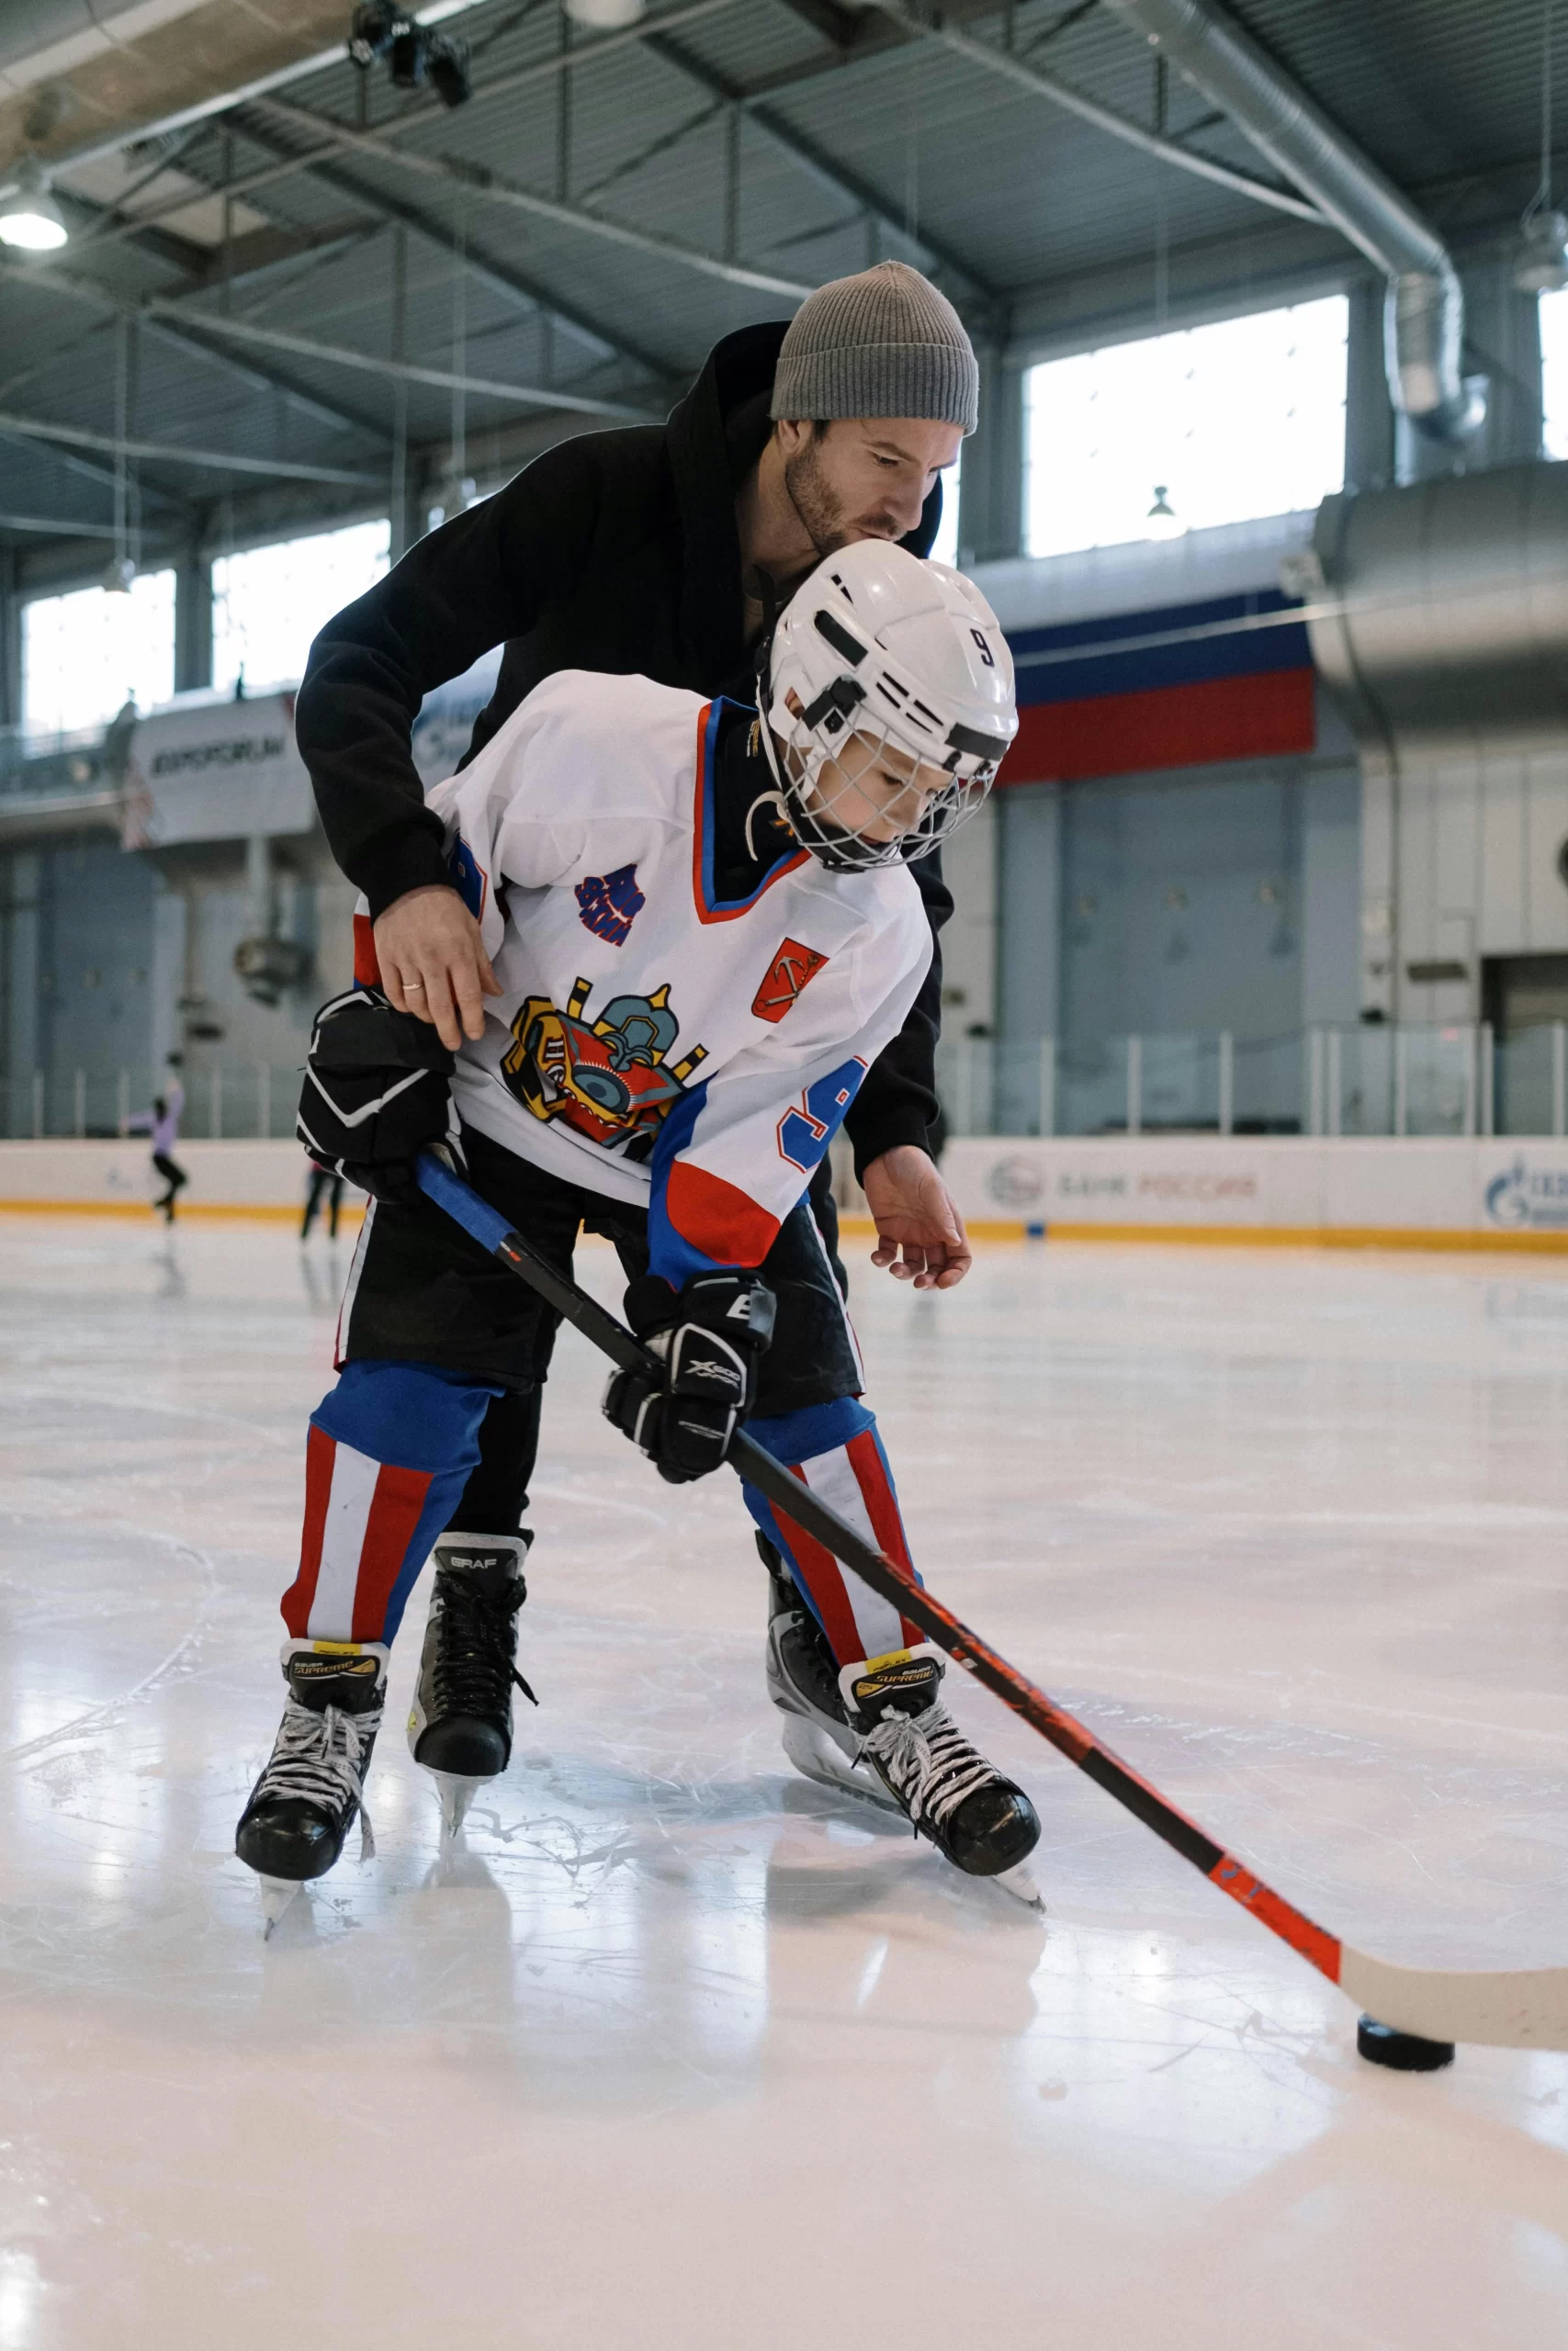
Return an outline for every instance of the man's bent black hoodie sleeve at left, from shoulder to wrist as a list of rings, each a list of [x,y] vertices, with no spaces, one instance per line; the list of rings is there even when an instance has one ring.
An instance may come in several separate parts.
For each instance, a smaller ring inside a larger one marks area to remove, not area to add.
[[[571,592],[599,498],[592,449],[559,442],[409,548],[310,647],[294,731],[331,853],[371,917],[409,889],[449,882],[442,823],[409,750],[421,701]]]

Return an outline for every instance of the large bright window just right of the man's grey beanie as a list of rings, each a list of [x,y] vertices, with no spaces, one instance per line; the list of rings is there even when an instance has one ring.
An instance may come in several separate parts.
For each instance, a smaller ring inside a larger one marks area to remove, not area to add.
[[[1025,376],[1025,548],[1288,515],[1345,484],[1342,294],[1046,360]]]

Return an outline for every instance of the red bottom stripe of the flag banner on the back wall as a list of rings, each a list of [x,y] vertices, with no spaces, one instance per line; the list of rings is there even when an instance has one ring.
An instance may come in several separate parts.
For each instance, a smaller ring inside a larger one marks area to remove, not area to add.
[[[1208,677],[1194,686],[1105,694],[1079,703],[1032,703],[999,785],[1131,776],[1211,759],[1262,759],[1316,743],[1312,670]]]

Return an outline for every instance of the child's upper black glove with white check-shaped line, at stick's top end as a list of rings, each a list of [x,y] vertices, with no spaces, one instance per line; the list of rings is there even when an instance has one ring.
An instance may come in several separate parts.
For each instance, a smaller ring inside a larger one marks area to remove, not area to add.
[[[315,1016],[294,1131],[371,1199],[418,1199],[414,1161],[447,1136],[451,1060],[428,1020],[353,987]]]

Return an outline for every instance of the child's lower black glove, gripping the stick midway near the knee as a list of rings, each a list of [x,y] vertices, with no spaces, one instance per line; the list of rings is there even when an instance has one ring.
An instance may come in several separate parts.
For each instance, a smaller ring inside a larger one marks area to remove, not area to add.
[[[658,1462],[672,1486],[708,1476],[757,1396],[757,1364],[773,1338],[773,1293],[757,1274],[693,1274],[675,1295],[658,1274],[625,1293],[625,1319],[658,1357],[661,1378],[618,1371],[604,1418]]]

